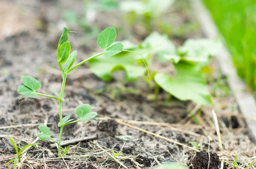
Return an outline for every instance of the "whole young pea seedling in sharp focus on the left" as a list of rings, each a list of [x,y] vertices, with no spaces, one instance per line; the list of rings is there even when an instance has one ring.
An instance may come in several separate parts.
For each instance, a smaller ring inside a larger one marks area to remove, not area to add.
[[[96,112],[91,112],[91,106],[89,104],[80,104],[75,109],[75,114],[79,117],[79,120],[74,121],[74,119],[70,119],[70,115],[67,115],[64,118],[62,118],[61,107],[62,107],[62,102],[65,101],[63,94],[64,94],[64,88],[66,84],[67,74],[73,71],[74,69],[78,68],[80,65],[84,64],[85,62],[90,61],[93,58],[96,58],[101,55],[105,57],[110,57],[124,51],[122,43],[113,44],[113,42],[116,40],[116,30],[114,28],[107,28],[104,31],[102,31],[101,34],[99,34],[97,39],[97,44],[103,50],[103,52],[90,56],[87,59],[84,59],[82,62],[72,67],[72,65],[76,60],[77,52],[73,51],[70,54],[71,46],[70,46],[70,42],[68,42],[70,32],[73,32],[73,31],[68,31],[68,28],[64,27],[61,38],[59,39],[59,42],[58,42],[57,60],[58,60],[58,65],[62,70],[62,79],[63,79],[60,93],[58,93],[54,89],[50,89],[50,90],[52,91],[53,94],[55,94],[55,96],[49,96],[47,94],[38,93],[37,91],[41,87],[41,84],[38,80],[36,80],[31,76],[22,76],[22,82],[24,85],[19,86],[17,89],[17,92],[24,95],[24,97],[36,98],[39,95],[39,96],[45,96],[52,99],[56,99],[58,101],[59,118],[60,118],[60,121],[58,123],[58,127],[60,127],[59,138],[58,139],[52,138],[49,127],[45,125],[38,126],[41,132],[37,133],[37,136],[41,140],[44,141],[49,139],[55,142],[58,148],[58,157],[64,156],[69,152],[68,150],[69,147],[67,148],[61,147],[61,136],[62,136],[64,126],[73,124],[79,121],[88,121],[96,117],[97,115]],[[133,51],[125,51],[125,52],[134,53]],[[62,66],[62,64],[64,64],[64,66]],[[61,154],[61,150],[63,151],[62,154]]]

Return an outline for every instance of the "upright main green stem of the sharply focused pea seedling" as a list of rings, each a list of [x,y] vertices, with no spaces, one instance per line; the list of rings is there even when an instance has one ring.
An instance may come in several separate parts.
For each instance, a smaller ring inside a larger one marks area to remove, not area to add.
[[[63,93],[64,93],[64,88],[65,88],[65,84],[66,84],[66,79],[67,79],[67,73],[64,73],[63,81],[62,81],[62,85],[61,85],[60,98],[63,96]],[[62,100],[59,99],[59,114],[60,114],[60,122],[61,122],[61,125],[62,125],[63,122],[62,122],[61,103],[62,103]],[[62,136],[62,132],[63,132],[63,127],[64,127],[64,126],[61,126],[61,129],[60,129],[60,135],[59,135],[59,141],[58,141],[58,157],[61,157],[61,136]]]

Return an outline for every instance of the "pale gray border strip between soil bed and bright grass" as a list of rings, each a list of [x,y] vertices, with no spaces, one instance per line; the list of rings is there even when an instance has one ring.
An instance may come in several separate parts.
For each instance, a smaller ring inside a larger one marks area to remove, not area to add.
[[[191,0],[191,6],[195,12],[201,28],[207,38],[214,38],[219,35],[209,12],[206,10],[201,0]],[[223,48],[217,57],[218,65],[224,75],[227,76],[230,89],[233,92],[239,105],[241,113],[246,117],[256,118],[256,101],[251,93],[246,92],[247,86],[239,79],[236,69],[231,61],[231,56],[226,48]],[[256,121],[245,119],[252,141],[256,142]]]

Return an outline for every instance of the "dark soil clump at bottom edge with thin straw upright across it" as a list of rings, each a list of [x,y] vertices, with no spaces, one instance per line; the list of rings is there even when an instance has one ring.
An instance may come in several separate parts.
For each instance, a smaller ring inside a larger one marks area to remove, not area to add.
[[[218,169],[220,164],[220,159],[218,155],[214,152],[210,152],[210,163],[209,163],[209,154],[205,150],[197,152],[195,157],[190,160],[190,169]]]

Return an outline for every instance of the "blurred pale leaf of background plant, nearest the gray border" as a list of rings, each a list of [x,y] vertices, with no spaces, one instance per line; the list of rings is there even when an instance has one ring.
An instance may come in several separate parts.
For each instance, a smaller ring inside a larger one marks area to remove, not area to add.
[[[178,48],[178,53],[183,59],[192,62],[208,62],[210,56],[218,54],[221,49],[221,42],[211,39],[188,39],[183,46]]]

